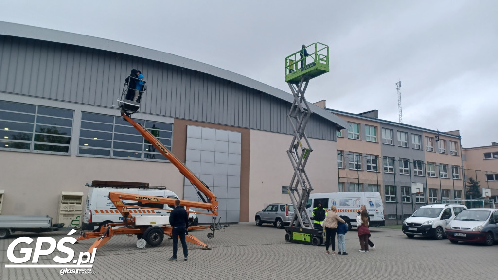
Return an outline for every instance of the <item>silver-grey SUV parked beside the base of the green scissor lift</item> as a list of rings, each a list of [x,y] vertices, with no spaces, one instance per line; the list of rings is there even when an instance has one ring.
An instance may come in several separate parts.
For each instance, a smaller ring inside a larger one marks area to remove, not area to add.
[[[293,214],[294,205],[273,203],[257,212],[256,215],[254,215],[254,221],[256,221],[256,226],[260,226],[263,223],[269,223],[279,229],[283,229],[285,225],[290,224]]]

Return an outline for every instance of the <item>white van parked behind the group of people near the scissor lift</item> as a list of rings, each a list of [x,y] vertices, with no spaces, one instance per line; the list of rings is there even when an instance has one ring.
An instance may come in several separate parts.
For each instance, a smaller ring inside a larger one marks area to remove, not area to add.
[[[370,226],[385,226],[384,204],[380,193],[373,191],[312,193],[306,203],[306,211],[312,217],[313,209],[321,202],[322,206],[330,211],[336,205],[337,214],[347,223],[348,228],[357,227],[356,216],[362,204],[365,204],[370,217]]]

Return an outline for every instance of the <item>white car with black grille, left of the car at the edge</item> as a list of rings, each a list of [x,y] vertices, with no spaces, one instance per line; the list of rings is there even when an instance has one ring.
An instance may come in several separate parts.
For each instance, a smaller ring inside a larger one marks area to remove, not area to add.
[[[427,204],[405,219],[401,230],[408,238],[422,235],[441,240],[445,236],[446,225],[466,209],[463,204]]]

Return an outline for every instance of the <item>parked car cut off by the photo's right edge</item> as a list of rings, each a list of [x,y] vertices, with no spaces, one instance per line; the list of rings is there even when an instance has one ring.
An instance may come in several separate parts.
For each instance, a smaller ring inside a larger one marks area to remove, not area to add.
[[[467,241],[492,246],[498,239],[498,209],[463,211],[446,226],[446,236],[452,243]]]

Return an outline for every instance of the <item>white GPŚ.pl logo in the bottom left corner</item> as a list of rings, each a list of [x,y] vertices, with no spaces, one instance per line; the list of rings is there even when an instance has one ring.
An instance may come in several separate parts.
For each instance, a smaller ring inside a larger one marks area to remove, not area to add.
[[[71,230],[71,232],[68,233],[68,235],[73,235],[76,232],[76,230]],[[16,265],[5,265],[6,269],[11,269],[11,268],[74,268],[74,269],[91,269],[93,268],[93,263],[95,261],[95,252],[97,249],[94,249],[92,254],[88,252],[80,252],[78,259],[74,259],[75,252],[73,249],[68,248],[64,246],[65,243],[71,243],[74,244],[76,242],[76,238],[74,237],[64,237],[61,238],[58,242],[52,238],[52,237],[38,237],[36,240],[36,244],[33,248],[21,248],[19,250],[19,253],[21,255],[20,258],[14,256],[14,250],[15,247],[19,244],[25,243],[25,244],[31,244],[33,242],[33,239],[29,237],[19,237],[12,241],[10,245],[8,246],[7,249],[7,258],[10,262],[16,264]],[[42,249],[44,244],[48,244],[48,249]],[[67,255],[66,258],[62,258],[59,255],[56,255],[53,260],[54,262],[58,263],[59,265],[39,265],[38,260],[40,256],[48,256],[52,254],[55,249],[59,252],[62,252]],[[31,264],[24,264],[31,260]],[[69,265],[69,263],[73,261],[72,263],[75,265]],[[66,265],[67,264],[67,265]],[[69,270],[71,271],[71,270]],[[83,271],[83,270],[82,270]],[[72,271],[71,271],[72,272]],[[67,272],[66,273],[71,273]],[[76,272],[76,271],[75,271]]]

